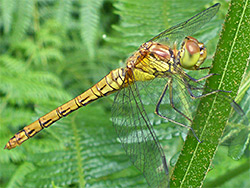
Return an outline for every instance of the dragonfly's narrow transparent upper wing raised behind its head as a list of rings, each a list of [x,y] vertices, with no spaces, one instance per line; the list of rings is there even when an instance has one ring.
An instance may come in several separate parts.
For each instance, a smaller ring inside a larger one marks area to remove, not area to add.
[[[149,41],[157,41],[159,43],[166,43],[172,45],[171,42],[182,42],[186,36],[192,35],[199,30],[203,25],[209,22],[218,12],[220,4],[216,3],[208,9],[196,14],[189,20],[173,26]]]

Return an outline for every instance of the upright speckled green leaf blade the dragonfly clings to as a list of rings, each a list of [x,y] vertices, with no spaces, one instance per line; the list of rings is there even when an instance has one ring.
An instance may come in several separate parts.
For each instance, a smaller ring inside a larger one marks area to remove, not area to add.
[[[231,91],[235,98],[249,63],[248,0],[233,0],[223,26],[214,58],[209,88]],[[220,94],[221,95],[221,94]],[[202,143],[190,133],[171,177],[173,187],[200,187],[209,171],[231,111],[225,97],[212,95],[201,100],[193,127]]]

